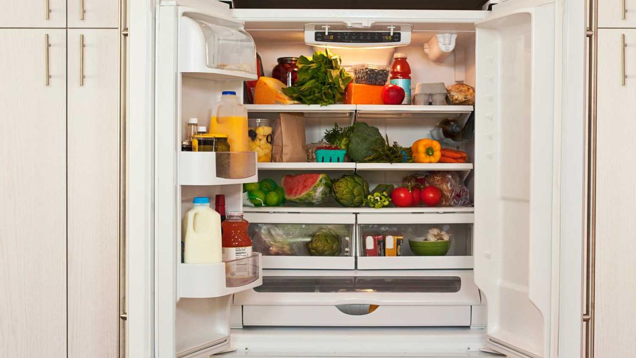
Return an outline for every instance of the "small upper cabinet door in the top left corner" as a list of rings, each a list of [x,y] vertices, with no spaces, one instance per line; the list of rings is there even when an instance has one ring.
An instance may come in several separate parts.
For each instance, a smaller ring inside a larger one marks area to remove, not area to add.
[[[66,0],[8,0],[0,27],[66,27]]]

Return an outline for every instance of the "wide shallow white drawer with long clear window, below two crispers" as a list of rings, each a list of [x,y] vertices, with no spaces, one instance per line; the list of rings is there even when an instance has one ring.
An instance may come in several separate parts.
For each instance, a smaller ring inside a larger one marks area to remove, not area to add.
[[[261,286],[235,294],[234,304],[471,306],[481,298],[470,270],[269,270]]]

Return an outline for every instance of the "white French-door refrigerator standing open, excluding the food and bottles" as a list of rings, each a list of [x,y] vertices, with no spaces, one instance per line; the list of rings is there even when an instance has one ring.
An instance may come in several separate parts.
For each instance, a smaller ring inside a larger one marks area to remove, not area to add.
[[[161,1],[153,123],[156,355],[207,357],[289,337],[268,354],[376,350],[378,356],[398,356],[425,344],[429,348],[422,352],[436,347],[448,356],[481,350],[553,356],[563,148],[558,100],[566,85],[559,13],[549,0],[509,0],[483,11],[230,9],[215,0]],[[371,45],[317,40],[368,31],[401,37]],[[451,50],[439,55],[431,50],[436,45]],[[245,104],[249,118],[302,114],[307,143],[320,141],[334,123],[364,121],[407,146],[429,137],[444,118],[472,121],[472,138],[446,142],[466,151],[469,162],[258,163],[255,152],[181,151],[188,118],[207,125],[223,91],[244,98],[244,82],[257,79],[257,52],[264,75],[271,76],[277,58],[310,56],[325,46],[345,67],[390,64],[393,53],[407,53],[413,89],[420,82],[466,83],[476,88],[475,104]],[[457,173],[470,203],[383,209],[244,205],[244,183],[280,182],[286,174],[356,173],[373,188],[432,171]],[[182,263],[183,216],[195,196],[216,194],[225,195],[227,211],[245,213],[254,251],[260,252],[237,262]],[[263,235],[301,230],[297,236],[307,236],[324,226],[342,237],[335,256],[299,253],[293,243],[272,243]],[[415,256],[406,240],[403,256],[365,252],[368,233],[422,237],[433,227],[452,233],[445,256]],[[233,278],[235,265],[249,266],[250,277]],[[386,344],[391,337],[395,345]]]

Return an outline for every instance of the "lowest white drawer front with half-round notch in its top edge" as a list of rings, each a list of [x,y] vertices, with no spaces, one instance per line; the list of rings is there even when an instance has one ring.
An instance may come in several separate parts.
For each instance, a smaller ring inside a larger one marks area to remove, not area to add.
[[[243,326],[470,326],[471,306],[243,306]]]

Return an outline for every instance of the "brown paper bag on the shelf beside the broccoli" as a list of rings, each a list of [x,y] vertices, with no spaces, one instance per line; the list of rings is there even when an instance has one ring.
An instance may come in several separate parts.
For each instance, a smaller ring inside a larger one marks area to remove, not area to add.
[[[305,115],[280,113],[276,120],[272,162],[307,162]]]

